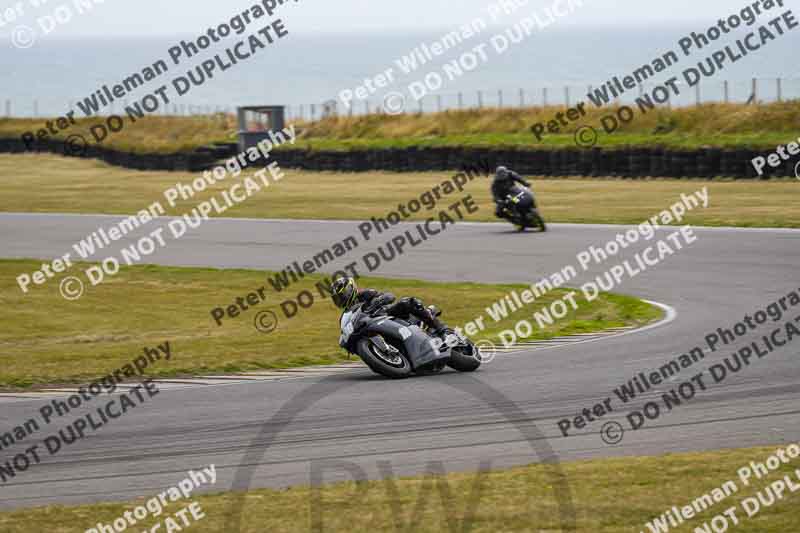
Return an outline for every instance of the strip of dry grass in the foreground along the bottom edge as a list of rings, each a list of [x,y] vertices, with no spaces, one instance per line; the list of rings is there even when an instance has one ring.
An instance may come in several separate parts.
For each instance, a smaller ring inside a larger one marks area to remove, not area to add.
[[[800,494],[786,491],[784,498],[770,507],[762,506],[753,518],[747,518],[740,506],[742,499],[755,496],[768,483],[792,475],[797,464],[782,465],[767,478],[753,480],[745,487],[737,470],[750,461],[763,462],[778,446],[702,453],[669,454],[660,457],[626,457],[568,462],[560,465],[575,508],[577,527],[585,533],[638,533],[649,531],[647,522],[667,509],[690,504],[695,498],[732,480],[739,492],[702,512],[697,518],[677,528],[674,533],[692,533],[695,527],[710,521],[731,506],[739,506],[741,523],[730,531],[748,533],[789,533],[800,522]],[[796,463],[796,461],[795,461]],[[287,490],[251,490],[247,493],[218,493],[194,498],[206,517],[192,521],[197,532],[233,531],[235,503],[244,497],[241,533],[280,531],[281,533],[323,531],[396,532],[395,520],[405,524],[418,521],[406,531],[561,532],[557,502],[552,485],[556,467],[530,465],[499,470],[476,478],[474,473],[447,474],[444,479],[408,477],[393,481],[344,482],[323,486],[316,494],[308,487]],[[182,475],[175,475],[177,482]],[[474,498],[476,480],[480,492]],[[449,488],[442,496],[439,487]],[[391,487],[396,498],[391,497]],[[430,491],[430,492],[427,492]],[[0,513],[0,530],[7,533],[82,532],[98,522],[110,523],[146,499],[127,503],[102,503],[82,506],[50,506]],[[171,504],[162,520],[179,511],[192,500]],[[424,505],[418,507],[418,502]],[[443,505],[443,501],[446,505]],[[312,525],[312,511],[316,528]],[[394,513],[398,514],[395,515]],[[457,524],[471,512],[469,529]],[[448,522],[448,520],[450,522]],[[137,531],[152,527],[149,518],[137,524]],[[180,523],[180,522],[179,522]],[[451,524],[456,526],[451,529]],[[161,528],[164,529],[164,526]]]

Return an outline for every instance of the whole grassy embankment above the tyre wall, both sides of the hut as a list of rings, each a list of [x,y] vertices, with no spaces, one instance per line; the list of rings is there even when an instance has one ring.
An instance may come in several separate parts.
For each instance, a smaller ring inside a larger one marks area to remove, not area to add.
[[[663,146],[669,148],[753,147],[773,149],[800,134],[800,101],[744,105],[706,104],[700,107],[657,109],[623,124],[611,135],[602,132],[601,118],[613,108],[586,106],[587,115],[559,134],[537,141],[531,126],[548,122],[562,106],[522,109],[471,109],[424,115],[367,115],[338,117],[297,124],[298,144],[280,149],[398,148],[405,146],[483,146],[575,148],[574,133],[582,125],[600,132],[597,146]],[[79,133],[87,139],[89,126],[98,119],[80,119],[57,138]],[[0,119],[0,137],[19,137],[43,127],[45,119]],[[234,141],[236,124],[231,115],[211,117],[145,117],[110,135],[104,145],[133,152],[169,153],[191,150],[218,141]]]

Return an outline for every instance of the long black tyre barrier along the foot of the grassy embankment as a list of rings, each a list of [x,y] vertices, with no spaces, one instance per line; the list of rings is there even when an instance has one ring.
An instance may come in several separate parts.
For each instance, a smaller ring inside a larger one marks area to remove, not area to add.
[[[77,151],[67,150],[62,142],[38,142],[36,152],[50,152],[72,157],[100,159],[111,165],[136,170],[202,171],[236,155],[235,143],[201,147],[192,152],[148,154],[123,152],[103,146],[89,145]],[[30,152],[20,139],[0,139],[0,153]],[[70,153],[71,152],[71,153]],[[524,175],[589,176],[589,177],[670,177],[712,178],[715,176],[757,179],[751,160],[762,155],[757,150],[735,148],[702,148],[670,150],[664,148],[619,148],[604,150],[559,149],[523,150],[480,147],[387,148],[380,150],[312,150],[281,148],[272,158],[284,168],[327,170],[338,172],[450,171],[464,162],[488,161],[505,165]],[[795,177],[796,161],[786,161],[778,168],[765,168],[761,179]]]

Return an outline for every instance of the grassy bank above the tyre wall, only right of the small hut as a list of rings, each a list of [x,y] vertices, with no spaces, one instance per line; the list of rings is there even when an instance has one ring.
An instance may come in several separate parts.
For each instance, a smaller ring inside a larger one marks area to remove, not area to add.
[[[752,147],[774,150],[796,140],[800,101],[748,106],[706,104],[699,107],[657,109],[605,134],[601,119],[617,108],[586,106],[586,116],[539,141],[531,133],[535,123],[556,118],[562,107],[480,109],[398,116],[335,117],[300,128],[291,147],[349,150],[407,146],[481,146],[517,149],[575,148],[575,131],[583,125],[600,133],[597,146],[649,146],[697,149]],[[288,147],[287,147],[288,149]]]

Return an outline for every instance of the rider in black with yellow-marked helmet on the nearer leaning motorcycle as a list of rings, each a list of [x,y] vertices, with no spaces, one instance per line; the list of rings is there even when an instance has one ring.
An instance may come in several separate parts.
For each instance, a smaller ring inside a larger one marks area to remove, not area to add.
[[[368,314],[381,311],[389,316],[407,320],[410,317],[418,319],[428,327],[431,334],[444,338],[452,330],[441,320],[431,314],[419,298],[407,297],[395,301],[394,294],[380,292],[375,289],[359,290],[353,278],[339,278],[331,285],[331,298],[340,309],[347,311],[350,308],[365,304],[362,308]]]

